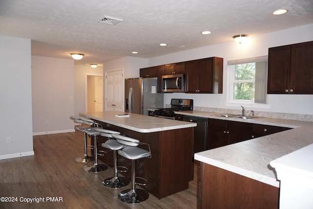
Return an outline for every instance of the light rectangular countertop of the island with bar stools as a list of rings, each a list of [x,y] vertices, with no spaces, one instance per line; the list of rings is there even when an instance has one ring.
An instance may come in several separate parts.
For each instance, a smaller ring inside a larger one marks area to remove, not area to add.
[[[129,115],[129,117],[115,116],[121,114],[127,114]],[[150,133],[197,126],[196,123],[170,120],[152,116],[143,116],[139,114],[125,112],[88,112],[79,113],[79,115],[141,133]]]

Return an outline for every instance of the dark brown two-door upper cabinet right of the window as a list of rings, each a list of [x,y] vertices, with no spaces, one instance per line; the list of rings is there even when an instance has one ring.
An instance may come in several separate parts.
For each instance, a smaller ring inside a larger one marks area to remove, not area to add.
[[[268,93],[313,94],[313,41],[268,48]]]

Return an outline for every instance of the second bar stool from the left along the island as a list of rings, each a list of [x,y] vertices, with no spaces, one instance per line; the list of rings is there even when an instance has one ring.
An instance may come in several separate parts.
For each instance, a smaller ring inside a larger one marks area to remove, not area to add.
[[[97,122],[93,122],[93,125],[98,129],[101,128],[102,129],[102,125],[100,123]],[[94,164],[93,165],[89,165],[89,166],[85,166],[84,170],[87,172],[101,172],[104,171],[106,169],[108,169],[108,166],[105,164],[98,164],[98,155],[100,156],[104,156],[103,154],[99,154],[98,153],[98,136],[100,135],[99,132],[96,131],[96,128],[87,130],[87,134],[89,134],[90,136],[93,136],[94,138]],[[104,152],[100,150],[99,152]]]

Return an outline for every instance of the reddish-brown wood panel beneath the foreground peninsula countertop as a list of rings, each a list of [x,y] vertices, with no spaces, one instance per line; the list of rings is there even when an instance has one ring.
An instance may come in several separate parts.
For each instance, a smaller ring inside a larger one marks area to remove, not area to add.
[[[200,163],[197,209],[278,209],[279,188]]]

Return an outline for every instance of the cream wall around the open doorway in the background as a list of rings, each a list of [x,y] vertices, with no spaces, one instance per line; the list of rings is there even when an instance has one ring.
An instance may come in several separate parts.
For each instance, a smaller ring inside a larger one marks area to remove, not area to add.
[[[103,75],[103,67],[91,68],[90,66],[75,65],[74,80],[74,115],[78,116],[81,112],[86,112],[86,76],[87,75]]]

